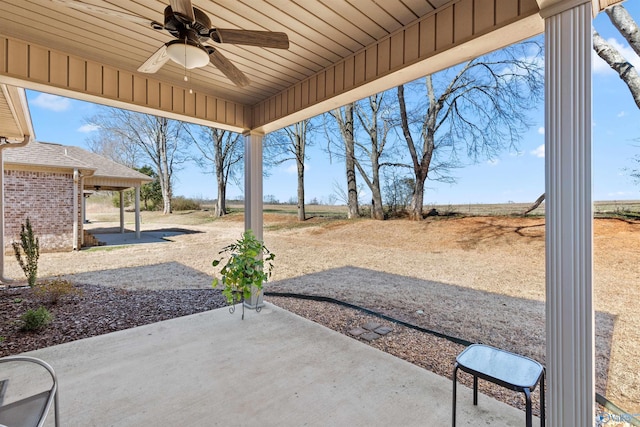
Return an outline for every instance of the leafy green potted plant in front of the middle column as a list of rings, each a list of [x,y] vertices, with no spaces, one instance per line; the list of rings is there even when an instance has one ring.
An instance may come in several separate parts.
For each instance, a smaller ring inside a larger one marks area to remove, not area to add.
[[[251,298],[251,292],[254,289],[260,292],[262,284],[271,277],[275,254],[271,253],[251,230],[245,231],[242,238],[235,243],[222,248],[218,255],[222,254],[228,256],[220,270],[222,279],[214,277],[212,286],[215,288],[222,283],[222,294],[231,305],[229,308],[231,313],[235,311],[237,303],[242,303],[242,319],[244,319],[244,301]],[[211,264],[217,267],[226,256],[214,259]]]

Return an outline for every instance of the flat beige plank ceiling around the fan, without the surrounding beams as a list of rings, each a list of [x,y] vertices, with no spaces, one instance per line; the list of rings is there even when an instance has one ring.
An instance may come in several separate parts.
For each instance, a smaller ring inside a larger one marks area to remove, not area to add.
[[[86,0],[101,7],[163,22],[167,0]],[[282,31],[288,50],[223,44],[220,50],[252,81],[229,82],[214,66],[187,71],[190,88],[253,105],[336,61],[433,12],[449,0],[194,0],[213,26]],[[102,13],[82,11],[51,0],[3,0],[0,33],[62,52],[117,64],[135,72],[163,43],[166,31]],[[167,63],[156,77],[181,83],[185,71]]]

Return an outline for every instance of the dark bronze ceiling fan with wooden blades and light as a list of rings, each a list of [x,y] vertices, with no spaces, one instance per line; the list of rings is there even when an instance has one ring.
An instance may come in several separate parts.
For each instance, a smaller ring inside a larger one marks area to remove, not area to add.
[[[185,69],[200,68],[211,63],[234,84],[244,87],[251,83],[247,76],[217,48],[204,43],[212,41],[276,49],[289,48],[289,38],[285,33],[214,28],[206,13],[193,7],[191,0],[170,0],[169,5],[164,9],[163,24],[127,12],[84,3],[81,0],[52,1],[73,9],[96,12],[149,25],[158,31],[167,30],[175,37],[175,40],[165,43],[151,55],[138,68],[141,73],[155,73],[169,59],[182,65]]]

